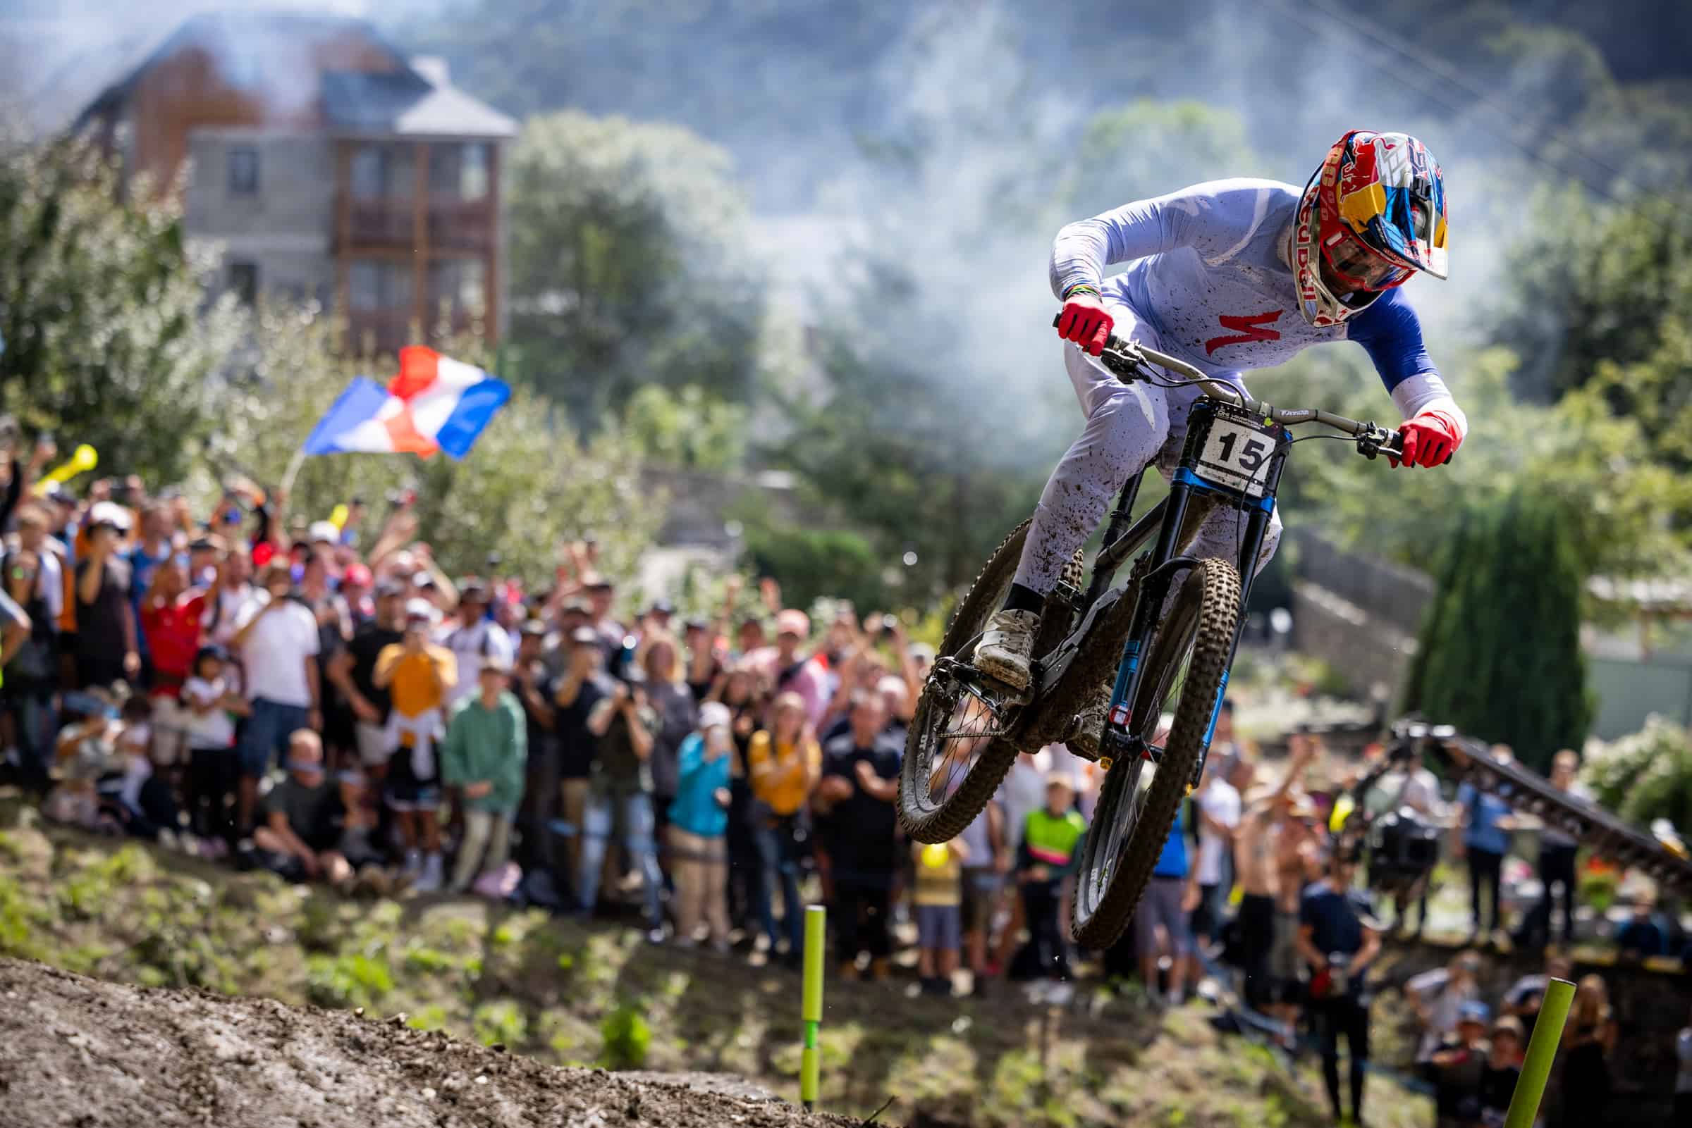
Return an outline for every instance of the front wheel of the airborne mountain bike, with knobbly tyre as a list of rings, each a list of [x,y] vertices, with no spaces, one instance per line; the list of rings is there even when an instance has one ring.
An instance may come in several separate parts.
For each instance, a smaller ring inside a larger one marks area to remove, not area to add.
[[[1239,617],[1239,572],[1227,560],[1210,558],[1186,575],[1157,624],[1129,714],[1156,763],[1135,756],[1115,761],[1105,773],[1071,900],[1071,930],[1085,947],[1115,944],[1145,891],[1210,736]],[[1174,724],[1156,749],[1166,710],[1174,714]]]

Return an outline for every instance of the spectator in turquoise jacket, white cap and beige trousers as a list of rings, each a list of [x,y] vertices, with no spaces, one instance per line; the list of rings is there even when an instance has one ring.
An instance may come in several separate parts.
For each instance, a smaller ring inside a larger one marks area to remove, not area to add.
[[[675,942],[690,947],[699,925],[711,930],[711,947],[729,947],[728,829],[729,756],[734,737],[729,707],[706,702],[699,731],[677,749],[675,802],[670,803],[670,857],[675,869]],[[792,910],[788,910],[792,912]]]

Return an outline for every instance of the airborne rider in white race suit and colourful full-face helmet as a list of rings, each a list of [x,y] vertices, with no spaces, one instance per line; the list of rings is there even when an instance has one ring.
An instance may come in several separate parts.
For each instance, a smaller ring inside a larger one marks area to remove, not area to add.
[[[1354,340],[1404,418],[1403,465],[1447,462],[1467,421],[1398,289],[1416,271],[1445,277],[1445,184],[1433,156],[1408,134],[1369,130],[1340,137],[1303,193],[1279,181],[1210,181],[1058,232],[1058,335],[1069,342],[1064,365],[1086,428],[1041,494],[1015,583],[976,646],[976,668],[1027,687],[1039,614],[1064,563],[1130,474],[1157,458],[1167,477],[1179,460],[1201,392],[1117,381],[1091,360],[1112,331],[1232,384],[1240,370],[1281,364],[1308,345]],[[1118,262],[1130,266],[1105,281],[1105,267]],[[1193,555],[1235,556],[1233,517],[1213,511]],[[1279,539],[1272,514],[1257,568]],[[1098,727],[1085,726],[1083,746],[1096,742]]]

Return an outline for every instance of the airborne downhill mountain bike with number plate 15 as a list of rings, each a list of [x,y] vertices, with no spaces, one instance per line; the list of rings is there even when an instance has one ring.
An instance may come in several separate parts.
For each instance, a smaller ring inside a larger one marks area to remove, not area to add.
[[[1076,942],[1105,949],[1122,935],[1176,808],[1203,773],[1252,563],[1296,441],[1288,428],[1332,428],[1340,433],[1333,438],[1350,438],[1369,458],[1401,455],[1403,443],[1398,431],[1374,423],[1313,408],[1274,408],[1118,337],[1110,337],[1098,360],[1125,384],[1196,382],[1203,391],[1169,494],[1132,519],[1145,470],[1123,484],[1091,578],[1078,550],[1046,599],[1032,678],[1022,692],[970,665],[988,617],[1010,590],[1029,523],[1005,538],[958,605],[917,700],[898,778],[898,817],[919,842],[946,842],[981,812],[1022,751],[1071,741],[1071,751],[1105,769],[1081,846],[1071,932]],[[1193,533],[1218,506],[1237,514],[1239,553],[1228,560],[1188,555]],[[1112,585],[1130,558],[1127,578]],[[1081,726],[1096,722],[1107,685],[1096,753],[1081,751],[1074,737]]]

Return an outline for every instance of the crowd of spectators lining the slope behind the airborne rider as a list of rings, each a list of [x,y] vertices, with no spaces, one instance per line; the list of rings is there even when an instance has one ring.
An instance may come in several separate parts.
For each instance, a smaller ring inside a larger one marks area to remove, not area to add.
[[[49,819],[347,893],[631,918],[655,944],[788,966],[821,900],[843,977],[888,979],[904,937],[924,993],[1014,979],[1068,999],[1069,878],[1100,773],[1061,746],[1022,756],[958,839],[904,841],[905,726],[932,653],[900,619],[812,622],[768,578],[755,614],[733,612],[734,578],[707,616],[629,607],[591,539],[543,590],[497,558],[448,578],[404,499],[299,523],[279,490],[232,482],[196,519],[135,479],[37,489],[51,457],[0,457],[0,778]],[[1161,1006],[1237,988],[1267,1037],[1315,1040],[1335,1116],[1343,1087],[1360,1121],[1384,928],[1357,835],[1305,786],[1320,739],[1293,734],[1289,751],[1261,761],[1223,704],[1134,925],[1100,959]],[[1574,786],[1572,753],[1557,764]],[[1399,775],[1382,781],[1393,807],[1442,805],[1437,780]],[[1442,815],[1475,940],[1502,927],[1511,813],[1465,788]],[[1545,928],[1555,890],[1567,942],[1574,842],[1546,834],[1540,866]],[[1399,898],[1399,923],[1418,896],[1425,923],[1425,888]],[[1667,928],[1641,905],[1618,942],[1662,954]],[[1487,999],[1479,971],[1465,949],[1404,984],[1442,1126],[1502,1123],[1545,991],[1538,976]],[[1585,976],[1565,1109],[1602,1108],[1614,1042],[1606,984]],[[1692,1074],[1692,1033],[1680,1057]]]

